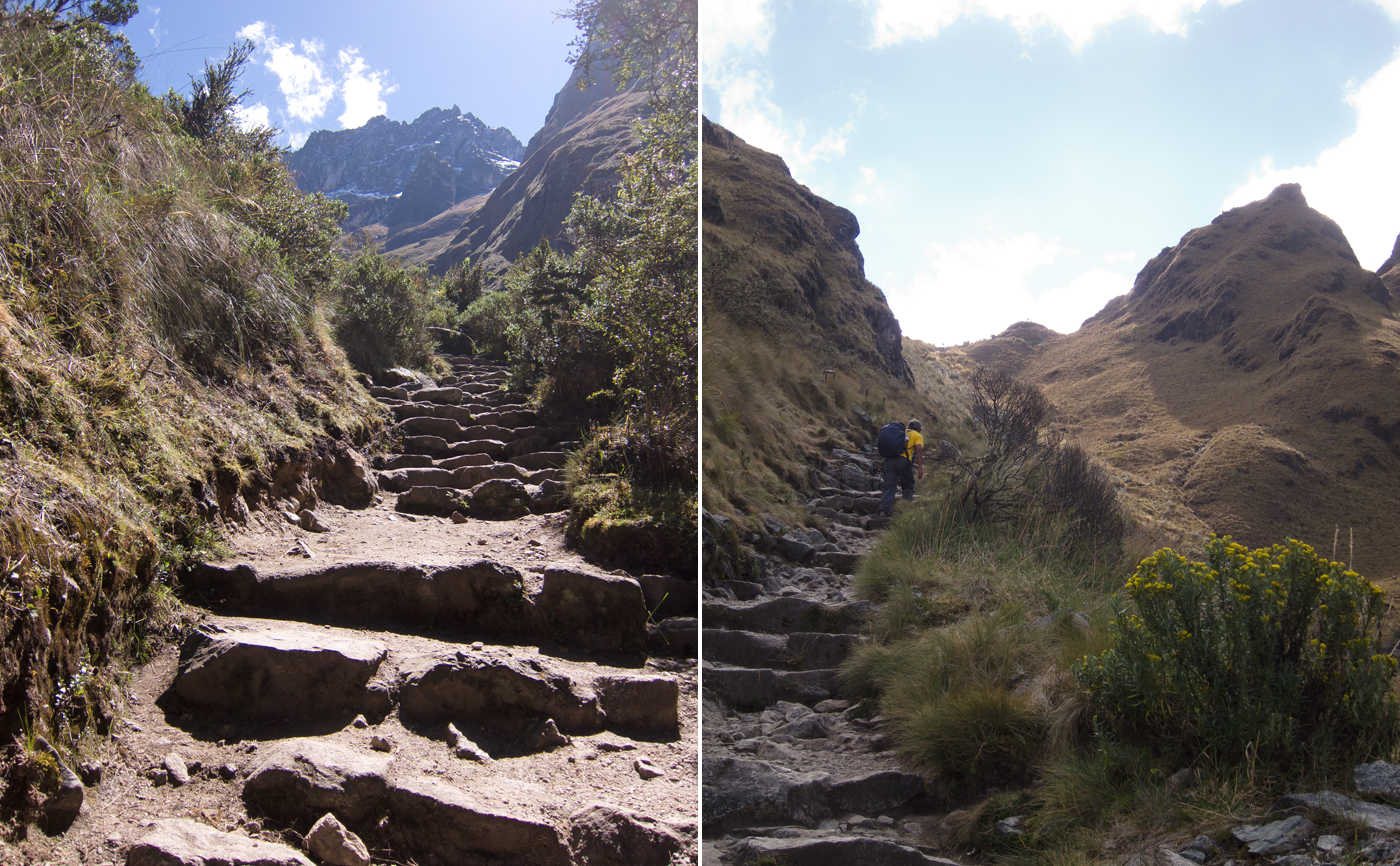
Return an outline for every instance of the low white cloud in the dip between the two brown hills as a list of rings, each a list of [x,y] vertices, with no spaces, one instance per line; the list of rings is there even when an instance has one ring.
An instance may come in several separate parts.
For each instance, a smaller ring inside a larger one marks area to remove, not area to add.
[[[913,284],[888,292],[890,306],[906,334],[938,346],[983,340],[1026,319],[1071,333],[1133,287],[1131,277],[1096,267],[1039,295],[1030,291],[1032,271],[1078,256],[1035,232],[932,242]]]

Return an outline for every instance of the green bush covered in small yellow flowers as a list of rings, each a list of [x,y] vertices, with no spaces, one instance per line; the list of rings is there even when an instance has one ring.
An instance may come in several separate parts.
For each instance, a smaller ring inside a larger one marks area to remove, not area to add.
[[[1249,551],[1211,536],[1124,588],[1113,644],[1075,676],[1120,733],[1233,762],[1340,767],[1397,739],[1396,660],[1378,649],[1383,592],[1301,541]]]

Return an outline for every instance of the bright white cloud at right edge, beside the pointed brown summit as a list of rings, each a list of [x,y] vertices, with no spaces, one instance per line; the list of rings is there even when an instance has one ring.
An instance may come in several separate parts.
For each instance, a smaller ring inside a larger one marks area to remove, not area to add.
[[[1390,6],[1400,6],[1400,0]],[[1400,17],[1400,15],[1397,15]],[[1400,214],[1400,171],[1394,143],[1400,140],[1400,52],[1375,76],[1347,95],[1357,109],[1357,130],[1319,154],[1313,165],[1275,168],[1260,159],[1249,180],[1236,187],[1221,210],[1263,199],[1280,183],[1301,183],[1308,204],[1341,225],[1365,267],[1379,267],[1390,255]]]

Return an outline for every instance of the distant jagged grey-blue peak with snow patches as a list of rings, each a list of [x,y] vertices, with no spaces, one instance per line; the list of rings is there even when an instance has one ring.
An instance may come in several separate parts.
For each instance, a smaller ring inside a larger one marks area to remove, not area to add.
[[[493,190],[524,150],[508,129],[454,105],[428,109],[412,123],[379,116],[360,129],[311,133],[287,165],[302,192],[349,204],[349,225],[420,222]]]

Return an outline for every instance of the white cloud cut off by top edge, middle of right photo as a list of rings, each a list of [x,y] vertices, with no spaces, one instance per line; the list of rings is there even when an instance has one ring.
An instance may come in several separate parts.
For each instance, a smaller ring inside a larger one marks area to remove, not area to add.
[[[874,7],[874,48],[910,39],[931,39],[959,18],[1000,18],[1025,41],[1037,29],[1057,29],[1074,50],[1088,45],[1100,27],[1141,15],[1152,29],[1184,35],[1190,15],[1211,0],[867,0]],[[1231,6],[1240,0],[1215,0]],[[1400,0],[1382,0],[1394,3]]]

